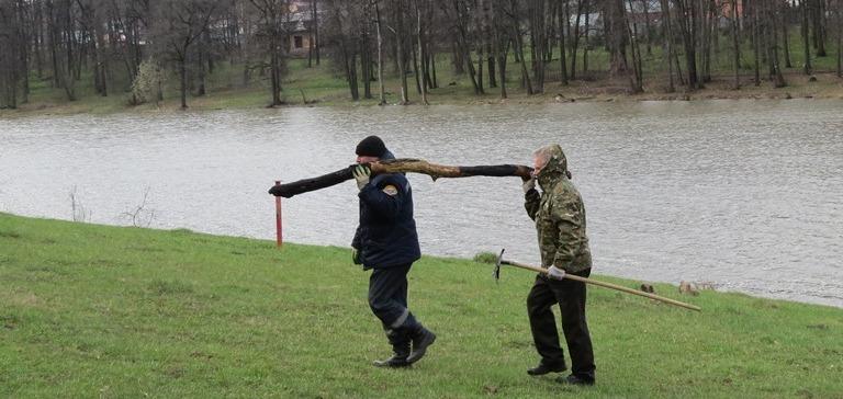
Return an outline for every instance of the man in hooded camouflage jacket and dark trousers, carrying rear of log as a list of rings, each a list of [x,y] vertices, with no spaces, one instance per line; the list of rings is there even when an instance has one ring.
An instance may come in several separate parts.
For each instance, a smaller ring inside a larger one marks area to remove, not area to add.
[[[536,221],[541,250],[541,265],[549,275],[539,274],[527,297],[527,310],[536,350],[541,362],[527,371],[543,375],[566,369],[564,352],[551,306],[559,304],[562,331],[571,353],[571,375],[561,383],[593,385],[594,352],[585,320],[585,284],[563,280],[565,273],[587,277],[592,253],[585,233],[585,207],[571,182],[567,161],[559,145],[542,147],[533,153],[533,178],[524,183],[525,207]],[[536,190],[538,180],[541,194]]]

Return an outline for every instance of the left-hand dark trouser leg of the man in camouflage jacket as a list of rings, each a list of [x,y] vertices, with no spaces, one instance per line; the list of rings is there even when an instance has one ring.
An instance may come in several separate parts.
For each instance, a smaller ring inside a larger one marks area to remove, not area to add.
[[[530,330],[536,350],[541,355],[541,361],[548,365],[564,365],[565,354],[559,346],[559,332],[557,320],[550,309],[557,303],[557,296],[541,275],[536,276],[536,282],[527,296],[527,315],[530,319]]]

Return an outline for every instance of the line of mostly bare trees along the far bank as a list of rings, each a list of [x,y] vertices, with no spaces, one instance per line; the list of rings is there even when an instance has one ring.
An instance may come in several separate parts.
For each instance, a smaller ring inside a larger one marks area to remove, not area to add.
[[[103,96],[158,101],[169,71],[187,107],[221,61],[241,70],[239,84],[269,82],[279,105],[296,32],[308,35],[308,66],[325,50],[353,100],[381,103],[385,73],[400,78],[401,103],[411,92],[426,103],[445,59],[475,94],[501,98],[513,84],[535,94],[596,77],[631,93],[645,77],[693,91],[719,59],[735,89],[742,76],[784,87],[784,69],[810,75],[830,48],[843,76],[842,14],[843,0],[0,0],[0,106],[25,103],[33,79],[68,101],[86,79]]]

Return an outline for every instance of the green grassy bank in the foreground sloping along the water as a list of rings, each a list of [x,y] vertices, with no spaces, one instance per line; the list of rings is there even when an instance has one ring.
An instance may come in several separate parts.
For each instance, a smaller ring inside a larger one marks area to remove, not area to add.
[[[528,377],[532,275],[491,272],[419,261],[411,303],[440,339],[383,371],[347,249],[0,214],[0,397],[843,398],[843,309],[665,284],[704,311],[592,288],[598,385]]]

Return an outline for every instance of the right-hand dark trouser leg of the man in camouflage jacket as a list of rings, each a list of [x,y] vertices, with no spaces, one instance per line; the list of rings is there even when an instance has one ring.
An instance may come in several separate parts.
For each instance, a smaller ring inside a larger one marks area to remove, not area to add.
[[[572,274],[587,277],[591,272],[592,270],[588,269]],[[571,372],[576,376],[593,379],[594,350],[585,319],[585,283],[563,280],[553,282],[553,288],[562,314],[562,331],[571,355]]]

